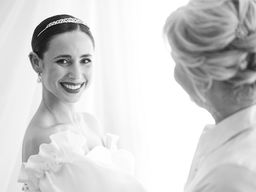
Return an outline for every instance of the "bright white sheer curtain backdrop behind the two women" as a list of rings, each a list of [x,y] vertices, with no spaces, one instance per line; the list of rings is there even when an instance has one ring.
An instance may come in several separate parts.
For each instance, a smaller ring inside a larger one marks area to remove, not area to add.
[[[96,40],[94,80],[78,111],[100,119],[119,147],[136,157],[136,177],[149,191],[182,191],[197,139],[211,117],[173,79],[162,27],[172,0],[0,0],[0,186],[18,192],[22,140],[41,100],[28,53],[34,28],[70,14]]]

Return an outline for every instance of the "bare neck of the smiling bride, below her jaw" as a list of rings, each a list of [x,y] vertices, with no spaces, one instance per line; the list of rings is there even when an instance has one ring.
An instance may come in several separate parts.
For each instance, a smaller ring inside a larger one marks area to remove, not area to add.
[[[52,117],[56,124],[77,124],[75,104],[63,102],[52,93],[42,94],[40,108]]]

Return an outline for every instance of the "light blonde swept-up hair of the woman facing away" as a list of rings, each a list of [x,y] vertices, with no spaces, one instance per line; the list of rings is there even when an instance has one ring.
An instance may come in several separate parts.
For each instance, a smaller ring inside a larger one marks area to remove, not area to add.
[[[241,25],[249,31],[244,39],[236,38]],[[238,88],[256,81],[255,0],[190,0],[170,14],[163,36],[176,64],[201,90],[213,80]],[[241,71],[244,60],[249,66]]]

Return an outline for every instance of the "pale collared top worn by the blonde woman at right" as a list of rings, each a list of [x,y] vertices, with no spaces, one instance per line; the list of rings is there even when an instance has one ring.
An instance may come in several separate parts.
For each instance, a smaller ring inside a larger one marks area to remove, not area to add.
[[[185,192],[256,191],[256,105],[216,125],[198,142]]]

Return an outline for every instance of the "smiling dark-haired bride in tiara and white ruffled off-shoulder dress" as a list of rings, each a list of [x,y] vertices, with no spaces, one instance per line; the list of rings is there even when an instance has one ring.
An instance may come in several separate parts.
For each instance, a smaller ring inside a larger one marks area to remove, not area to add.
[[[34,30],[29,54],[42,101],[26,130],[18,182],[36,192],[144,192],[132,176],[134,159],[104,136],[97,118],[74,103],[92,80],[94,38],[70,15],[56,15]]]

